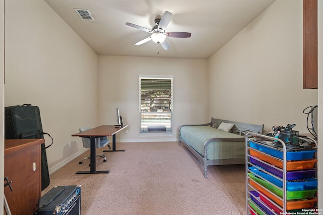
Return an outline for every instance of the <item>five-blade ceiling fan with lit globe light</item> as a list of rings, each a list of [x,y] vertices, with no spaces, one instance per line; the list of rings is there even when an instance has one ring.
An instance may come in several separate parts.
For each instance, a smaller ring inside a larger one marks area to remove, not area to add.
[[[178,37],[178,38],[185,38],[185,37],[191,37],[191,33],[188,32],[165,32],[166,27],[170,23],[172,19],[173,14],[165,11],[163,16],[159,19],[156,18],[155,21],[155,26],[152,27],[152,29],[147,29],[144,27],[141,27],[139,25],[135,25],[132,23],[126,23],[126,25],[129,25],[131,27],[137,28],[141,31],[145,31],[151,34],[150,37],[143,39],[139,42],[137,42],[135,45],[141,45],[145,42],[148,42],[149,40],[154,41],[157,44],[160,44],[161,47],[163,47],[165,50],[168,50],[170,48],[169,44],[165,40],[166,37]]]

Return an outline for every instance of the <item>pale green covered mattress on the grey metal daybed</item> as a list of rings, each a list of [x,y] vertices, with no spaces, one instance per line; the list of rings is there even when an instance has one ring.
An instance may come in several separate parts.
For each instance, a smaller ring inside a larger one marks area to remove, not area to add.
[[[204,143],[214,137],[241,138],[210,126],[183,126],[181,138],[203,157]],[[207,160],[245,158],[245,141],[212,141],[206,149]]]

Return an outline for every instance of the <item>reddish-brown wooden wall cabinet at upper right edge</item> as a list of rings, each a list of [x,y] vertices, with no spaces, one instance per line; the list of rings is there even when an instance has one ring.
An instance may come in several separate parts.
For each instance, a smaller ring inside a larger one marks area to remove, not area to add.
[[[303,89],[317,89],[317,0],[303,0]]]

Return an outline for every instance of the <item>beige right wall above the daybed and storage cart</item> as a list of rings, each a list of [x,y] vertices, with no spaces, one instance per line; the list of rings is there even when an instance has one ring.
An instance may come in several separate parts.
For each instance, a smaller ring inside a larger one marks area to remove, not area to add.
[[[276,1],[209,59],[210,116],[308,133],[317,90],[303,90],[302,8]]]

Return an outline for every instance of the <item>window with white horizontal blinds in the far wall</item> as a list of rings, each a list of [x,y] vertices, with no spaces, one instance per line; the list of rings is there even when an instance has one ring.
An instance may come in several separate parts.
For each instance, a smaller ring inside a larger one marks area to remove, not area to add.
[[[173,77],[139,77],[140,133],[171,133]]]

